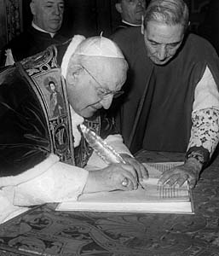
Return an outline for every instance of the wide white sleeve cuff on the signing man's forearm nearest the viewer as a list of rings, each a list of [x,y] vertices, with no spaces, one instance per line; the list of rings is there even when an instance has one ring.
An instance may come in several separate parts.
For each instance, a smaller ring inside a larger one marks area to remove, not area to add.
[[[15,187],[14,205],[32,206],[48,202],[77,201],[89,172],[56,162],[46,172]]]

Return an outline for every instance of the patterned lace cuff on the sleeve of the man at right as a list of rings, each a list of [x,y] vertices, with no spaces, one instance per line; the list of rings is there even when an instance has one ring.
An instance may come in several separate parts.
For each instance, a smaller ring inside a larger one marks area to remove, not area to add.
[[[193,112],[193,127],[187,148],[206,148],[210,156],[219,142],[219,110],[216,108],[205,108]]]

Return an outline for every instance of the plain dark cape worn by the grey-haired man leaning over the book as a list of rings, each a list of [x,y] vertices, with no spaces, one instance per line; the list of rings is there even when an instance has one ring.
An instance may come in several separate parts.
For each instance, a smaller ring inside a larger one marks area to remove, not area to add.
[[[112,39],[130,65],[117,120],[124,142],[132,153],[140,148],[186,152],[194,90],[206,66],[219,84],[216,51],[204,38],[189,34],[170,63],[156,66],[147,57],[139,28],[116,32]]]

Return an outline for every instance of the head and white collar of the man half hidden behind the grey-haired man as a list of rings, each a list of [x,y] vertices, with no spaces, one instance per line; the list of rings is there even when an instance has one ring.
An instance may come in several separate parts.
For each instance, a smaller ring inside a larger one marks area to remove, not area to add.
[[[115,7],[122,19],[116,30],[130,26],[141,26],[142,16],[144,16],[146,9],[145,0],[117,0]]]

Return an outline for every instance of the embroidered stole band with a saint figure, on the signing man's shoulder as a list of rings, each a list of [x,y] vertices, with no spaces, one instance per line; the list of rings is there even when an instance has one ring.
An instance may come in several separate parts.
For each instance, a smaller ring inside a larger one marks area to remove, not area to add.
[[[32,86],[47,119],[51,153],[62,162],[75,165],[72,122],[66,96],[66,84],[56,62],[57,49],[51,46],[17,65]]]

